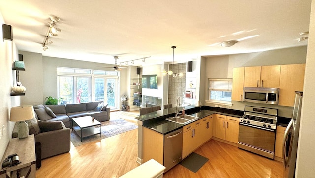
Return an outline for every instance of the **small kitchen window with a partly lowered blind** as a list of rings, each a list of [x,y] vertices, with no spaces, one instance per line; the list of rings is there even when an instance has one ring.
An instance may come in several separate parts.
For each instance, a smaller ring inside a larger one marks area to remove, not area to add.
[[[231,103],[232,79],[209,79],[209,101]]]

